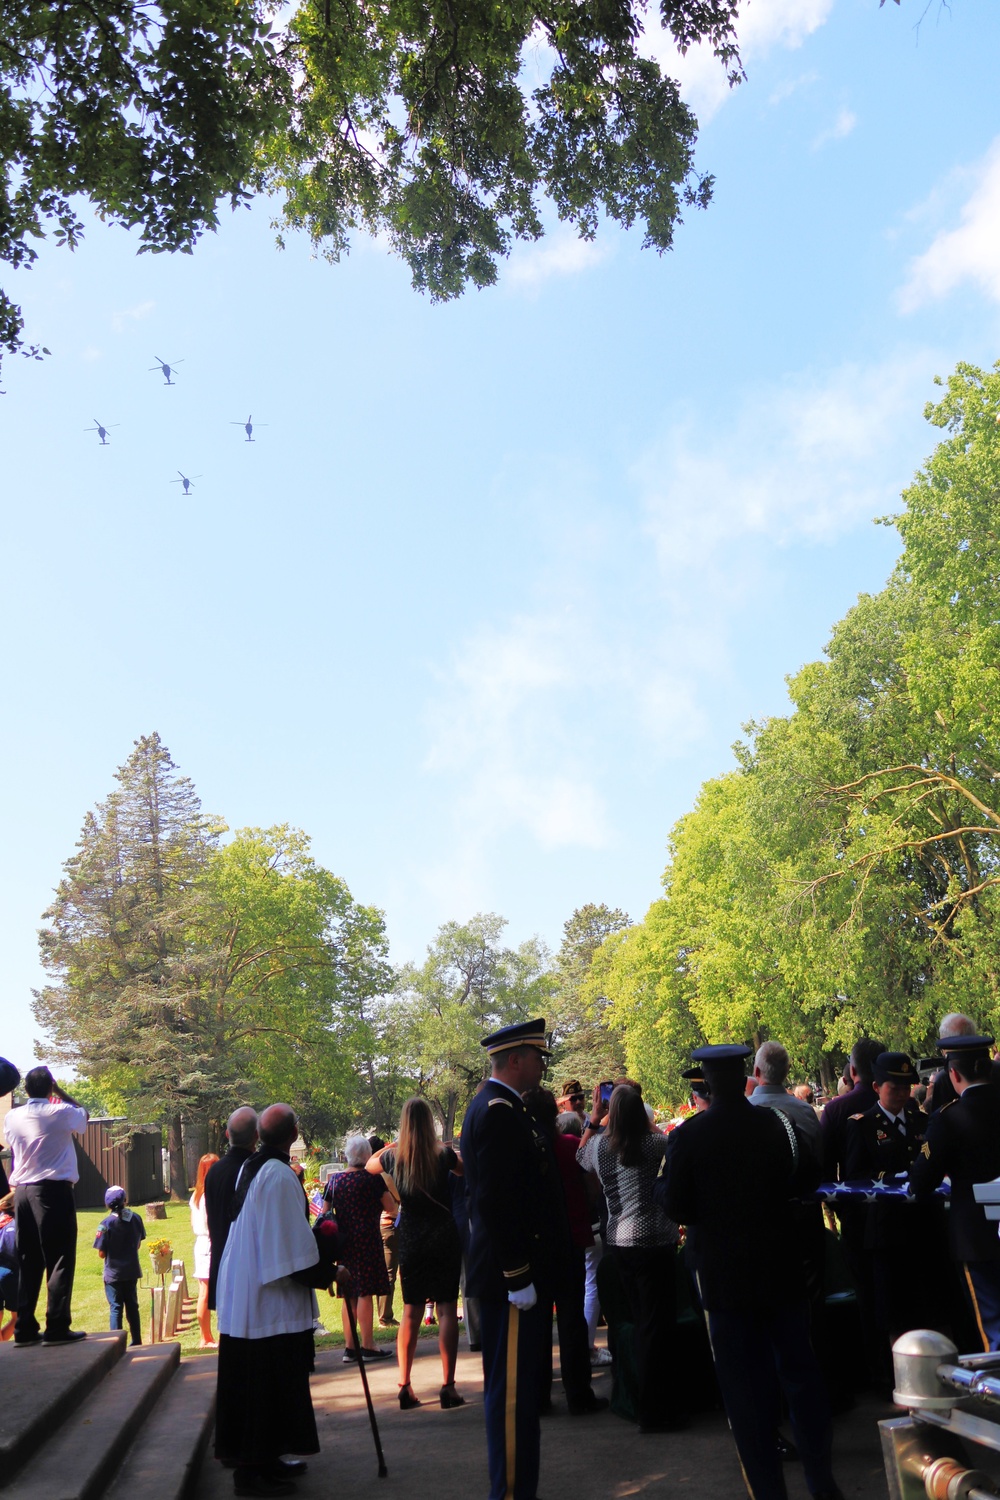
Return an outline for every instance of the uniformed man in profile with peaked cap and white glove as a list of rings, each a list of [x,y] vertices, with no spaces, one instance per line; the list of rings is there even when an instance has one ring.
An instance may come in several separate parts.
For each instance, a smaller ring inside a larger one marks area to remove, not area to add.
[[[544,1020],[483,1038],[492,1077],[462,1122],[469,1203],[469,1294],[480,1299],[490,1500],[537,1500],[543,1328],[535,1284],[552,1276],[552,1155],[520,1095],[541,1083]]]

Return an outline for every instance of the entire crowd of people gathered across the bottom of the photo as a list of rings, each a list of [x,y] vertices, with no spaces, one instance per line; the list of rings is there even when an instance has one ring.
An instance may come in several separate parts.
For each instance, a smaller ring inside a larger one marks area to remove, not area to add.
[[[211,1310],[219,1322],[216,1455],[235,1492],[291,1494],[318,1452],[315,1293],[336,1287],[345,1364],[388,1358],[376,1316],[397,1329],[403,1412],[427,1400],[412,1380],[429,1310],[438,1401],[465,1406],[462,1298],[469,1347],[483,1356],[490,1500],[537,1500],[553,1323],[573,1416],[606,1410],[592,1372],[613,1359],[642,1434],[690,1424],[691,1382],[672,1358],[681,1302],[706,1329],[753,1500],[784,1500],[783,1413],[811,1496],[838,1500],[825,1359],[832,1263],[853,1288],[859,1376],[876,1389],[888,1389],[892,1341],[909,1328],[1000,1348],[1000,1238],[973,1191],[1000,1178],[1000,1064],[967,1016],[946,1016],[937,1046],[940,1066],[922,1083],[909,1054],[861,1038],[841,1092],[822,1107],[810,1086],[789,1086],[781,1042],[753,1056],[702,1047],[684,1072],[690,1112],[660,1128],[636,1080],[598,1083],[589,1096],[576,1078],[547,1089],[544,1022],[526,1022],[483,1038],[489,1077],[454,1143],[438,1138],[426,1100],[409,1100],[388,1144],[348,1137],[342,1170],[313,1204],[289,1155],[294,1112],[237,1110],[226,1154],[202,1156],[192,1196],[204,1344],[214,1342]],[[66,1143],[85,1112],[46,1070],[27,1076],[25,1092],[7,1118],[13,1204],[0,1202],[0,1256],[13,1224],[19,1274],[13,1299],[0,1280],[0,1302],[16,1306],[16,1326],[0,1312],[0,1336],[64,1342],[82,1336],[69,1326]],[[144,1228],[120,1188],[106,1208],[96,1245],[111,1323],[127,1322],[138,1342]],[[607,1350],[597,1344],[601,1302]]]

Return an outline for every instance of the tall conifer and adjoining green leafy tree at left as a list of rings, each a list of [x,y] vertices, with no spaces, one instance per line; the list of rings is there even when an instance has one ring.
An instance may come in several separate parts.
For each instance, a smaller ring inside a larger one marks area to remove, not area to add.
[[[315,862],[298,830],[225,831],[159,735],[136,741],[87,814],[40,932],[49,1052],[168,1124],[171,1179],[247,1098],[292,1104],[306,1136],[355,1116],[364,1005],[388,990],[382,915]]]

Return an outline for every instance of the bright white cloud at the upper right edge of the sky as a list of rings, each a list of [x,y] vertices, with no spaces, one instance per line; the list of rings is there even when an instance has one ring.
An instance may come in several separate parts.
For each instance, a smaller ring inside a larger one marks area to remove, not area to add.
[[[913,312],[970,280],[1000,302],[1000,138],[975,171],[975,186],[955,230],[942,230],[910,262],[900,308]]]

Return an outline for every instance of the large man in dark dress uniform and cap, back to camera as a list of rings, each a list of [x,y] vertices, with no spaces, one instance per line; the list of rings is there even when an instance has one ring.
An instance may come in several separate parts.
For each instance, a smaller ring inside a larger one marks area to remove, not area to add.
[[[750,1047],[699,1047],[712,1107],[670,1134],[655,1197],[687,1226],[715,1374],[751,1500],[786,1500],[774,1442],[780,1394],[814,1500],[843,1500],[831,1467],[832,1424],[810,1342],[802,1260],[790,1198],[789,1132],[775,1110],[745,1096]]]

